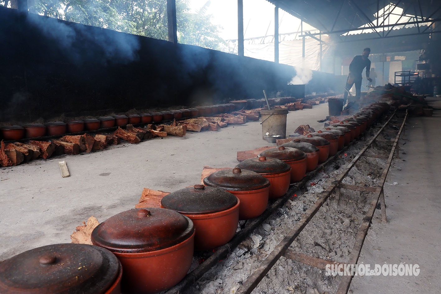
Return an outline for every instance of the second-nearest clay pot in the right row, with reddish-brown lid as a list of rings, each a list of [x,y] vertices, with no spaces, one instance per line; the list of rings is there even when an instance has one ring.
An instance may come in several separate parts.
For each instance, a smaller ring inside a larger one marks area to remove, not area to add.
[[[173,287],[187,274],[194,225],[187,216],[170,209],[131,209],[100,223],[91,240],[120,260],[122,293],[150,294]]]

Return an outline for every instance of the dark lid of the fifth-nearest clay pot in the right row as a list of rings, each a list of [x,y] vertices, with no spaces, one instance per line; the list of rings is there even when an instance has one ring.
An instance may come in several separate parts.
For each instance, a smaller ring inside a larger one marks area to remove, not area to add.
[[[291,170],[286,162],[265,156],[243,160],[237,167],[267,175],[281,174]]]

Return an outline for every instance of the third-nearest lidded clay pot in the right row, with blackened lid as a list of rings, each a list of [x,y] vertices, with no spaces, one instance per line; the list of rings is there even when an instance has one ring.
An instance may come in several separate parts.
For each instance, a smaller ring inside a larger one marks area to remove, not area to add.
[[[194,248],[211,250],[228,243],[239,223],[237,197],[225,190],[198,184],[170,193],[161,207],[187,216],[194,223]]]

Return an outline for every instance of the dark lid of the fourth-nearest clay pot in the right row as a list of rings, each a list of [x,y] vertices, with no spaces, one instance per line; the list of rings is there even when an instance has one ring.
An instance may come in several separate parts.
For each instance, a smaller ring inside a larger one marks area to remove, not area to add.
[[[204,179],[204,184],[229,191],[250,191],[269,187],[269,180],[257,172],[235,167],[213,172]]]

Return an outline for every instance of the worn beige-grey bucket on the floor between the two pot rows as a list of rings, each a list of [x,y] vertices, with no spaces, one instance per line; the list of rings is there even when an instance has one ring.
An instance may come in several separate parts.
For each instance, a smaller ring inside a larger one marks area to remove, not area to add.
[[[269,133],[270,136],[280,135],[281,139],[286,138],[286,115],[288,114],[287,108],[276,109],[262,109],[260,115],[262,115],[262,139],[263,136]]]

